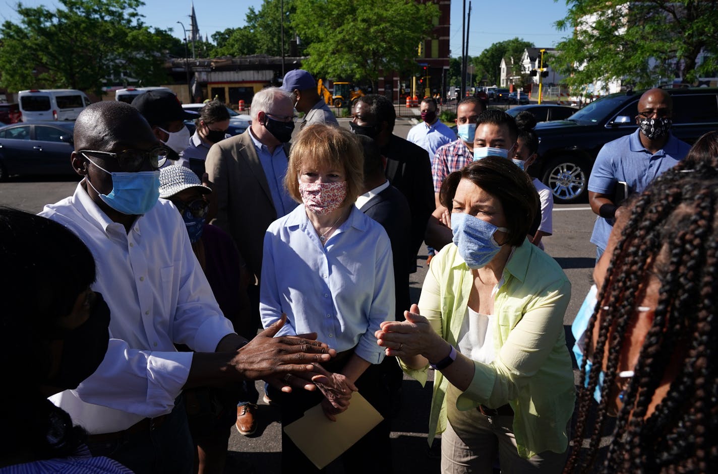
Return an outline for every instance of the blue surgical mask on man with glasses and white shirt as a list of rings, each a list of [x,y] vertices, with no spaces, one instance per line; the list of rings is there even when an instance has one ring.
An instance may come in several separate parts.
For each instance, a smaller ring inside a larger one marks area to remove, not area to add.
[[[85,158],[88,156],[85,155]],[[122,214],[135,216],[145,214],[157,204],[159,199],[159,171],[136,171],[134,173],[110,172],[88,158],[90,163],[112,176],[112,191],[101,194],[89,179],[85,181],[100,196],[100,199],[112,209]]]

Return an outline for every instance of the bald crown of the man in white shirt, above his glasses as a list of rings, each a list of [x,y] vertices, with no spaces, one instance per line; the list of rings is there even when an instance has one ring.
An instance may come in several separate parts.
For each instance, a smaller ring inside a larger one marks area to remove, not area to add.
[[[157,142],[139,110],[115,100],[85,108],[75,121],[74,138],[76,150],[109,151],[117,143],[125,143],[126,148],[146,148],[148,143]]]

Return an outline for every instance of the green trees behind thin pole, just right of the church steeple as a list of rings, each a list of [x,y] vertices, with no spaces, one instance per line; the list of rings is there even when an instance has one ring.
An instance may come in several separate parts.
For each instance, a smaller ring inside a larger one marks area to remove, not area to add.
[[[292,18],[294,0],[284,0],[284,54],[289,55],[289,42],[294,38]],[[217,46],[213,56],[246,56],[248,54],[281,55],[281,0],[264,0],[259,11],[249,7],[246,26],[216,32],[212,39]]]

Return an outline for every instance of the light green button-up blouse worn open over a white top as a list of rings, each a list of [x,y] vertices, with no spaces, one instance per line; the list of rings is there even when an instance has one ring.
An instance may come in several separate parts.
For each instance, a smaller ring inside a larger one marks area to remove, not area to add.
[[[473,281],[456,245],[449,244],[432,260],[421,289],[421,315],[453,346],[457,346]],[[518,455],[531,458],[546,450],[564,452],[575,399],[572,361],[564,336],[571,283],[556,260],[526,240],[506,262],[494,298],[497,355],[491,364],[474,361],[474,377],[458,397],[457,409],[475,409],[478,404],[498,408],[509,403]],[[422,386],[426,384],[429,366],[409,369],[400,364]],[[437,371],[429,444],[435,434],[446,429],[448,385]]]

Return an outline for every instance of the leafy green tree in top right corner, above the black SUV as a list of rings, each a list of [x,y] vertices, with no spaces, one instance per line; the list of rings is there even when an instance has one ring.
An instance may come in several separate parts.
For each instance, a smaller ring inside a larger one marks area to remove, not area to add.
[[[650,87],[673,77],[695,82],[718,70],[718,8],[706,0],[567,0],[570,29],[554,69],[580,88],[620,80]],[[707,53],[699,63],[701,52]]]

